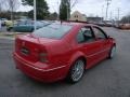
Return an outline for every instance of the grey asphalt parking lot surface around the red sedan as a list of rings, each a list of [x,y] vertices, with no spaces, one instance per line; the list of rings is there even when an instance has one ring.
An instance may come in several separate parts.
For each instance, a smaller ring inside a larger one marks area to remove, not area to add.
[[[88,70],[77,84],[36,82],[15,69],[14,41],[0,39],[0,97],[130,97],[130,31],[104,28],[117,54]]]

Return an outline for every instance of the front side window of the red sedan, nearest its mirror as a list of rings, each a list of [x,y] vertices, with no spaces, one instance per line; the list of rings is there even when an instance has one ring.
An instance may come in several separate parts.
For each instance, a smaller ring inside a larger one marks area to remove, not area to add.
[[[106,39],[105,33],[98,27],[93,27],[94,34],[96,39]]]

